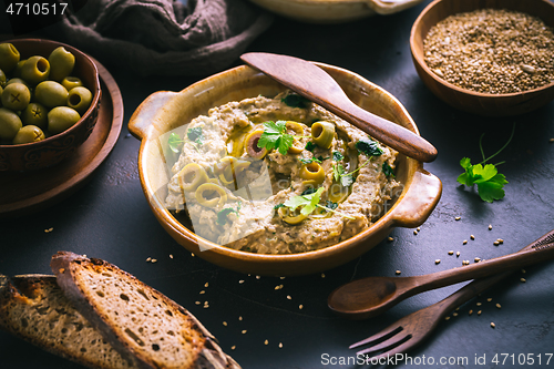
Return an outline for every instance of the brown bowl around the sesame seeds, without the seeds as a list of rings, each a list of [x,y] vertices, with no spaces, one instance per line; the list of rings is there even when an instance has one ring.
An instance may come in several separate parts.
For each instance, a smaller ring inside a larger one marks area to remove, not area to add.
[[[416,70],[427,86],[451,106],[483,116],[507,116],[531,112],[554,99],[554,82],[520,93],[490,94],[458,88],[431,71],[423,55],[429,30],[447,17],[478,9],[507,9],[538,17],[554,27],[554,3],[547,0],[435,0],[413,23],[410,48]]]

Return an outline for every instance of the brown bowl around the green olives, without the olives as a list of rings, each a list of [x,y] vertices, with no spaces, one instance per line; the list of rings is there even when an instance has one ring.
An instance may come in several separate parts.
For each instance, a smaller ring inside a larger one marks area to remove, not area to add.
[[[93,94],[89,110],[81,116],[79,122],[64,132],[39,142],[0,145],[0,171],[30,171],[58,164],[65,157],[73,155],[76,147],[91,135],[96,124],[101,98],[96,65],[78,49],[55,41],[19,39],[2,42],[12,43],[20,52],[22,60],[32,55],[42,55],[48,59],[48,55],[55,48],[64,47],[75,57],[75,66],[71,75],[80,78]]]

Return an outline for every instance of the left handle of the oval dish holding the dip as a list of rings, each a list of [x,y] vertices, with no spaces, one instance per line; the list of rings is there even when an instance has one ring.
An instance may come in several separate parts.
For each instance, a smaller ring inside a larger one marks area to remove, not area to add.
[[[154,115],[176,94],[177,92],[158,91],[146,98],[129,120],[129,132],[138,140],[146,137]]]

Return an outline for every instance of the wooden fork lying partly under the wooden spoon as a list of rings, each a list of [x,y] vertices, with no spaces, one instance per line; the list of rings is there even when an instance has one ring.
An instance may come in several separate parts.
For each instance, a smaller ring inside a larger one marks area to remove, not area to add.
[[[554,242],[554,230],[551,230],[523,249],[536,248],[552,242]],[[368,362],[369,360],[379,360],[407,352],[428,338],[439,326],[439,322],[452,310],[512,273],[505,271],[495,276],[475,279],[443,300],[399,319],[377,335],[352,344],[349,348],[353,349],[363,345],[370,345],[368,348],[356,352],[357,356],[365,355]]]

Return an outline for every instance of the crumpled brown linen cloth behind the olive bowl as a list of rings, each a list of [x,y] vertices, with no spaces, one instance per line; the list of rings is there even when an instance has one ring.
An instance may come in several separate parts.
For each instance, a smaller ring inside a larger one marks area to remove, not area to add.
[[[206,75],[229,66],[271,21],[246,0],[88,0],[45,31],[142,75]]]

